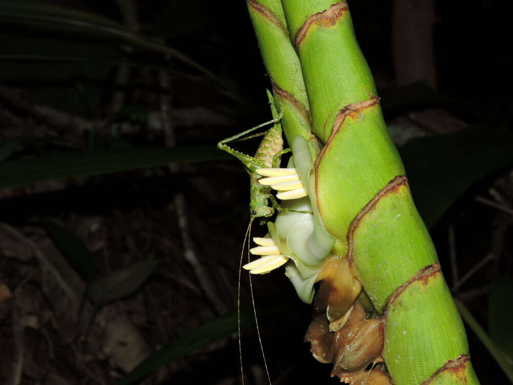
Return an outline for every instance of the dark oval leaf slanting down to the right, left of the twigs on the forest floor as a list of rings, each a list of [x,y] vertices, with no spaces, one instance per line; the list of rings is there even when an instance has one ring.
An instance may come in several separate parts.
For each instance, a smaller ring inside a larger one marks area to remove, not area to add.
[[[55,222],[44,220],[43,226],[78,275],[89,282],[94,274],[94,260],[86,244]]]

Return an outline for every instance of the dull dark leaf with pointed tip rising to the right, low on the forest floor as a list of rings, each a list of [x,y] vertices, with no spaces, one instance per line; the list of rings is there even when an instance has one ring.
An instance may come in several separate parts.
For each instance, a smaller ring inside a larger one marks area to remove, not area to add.
[[[134,293],[149,278],[160,261],[143,261],[95,281],[87,288],[87,295],[96,306],[102,306]]]

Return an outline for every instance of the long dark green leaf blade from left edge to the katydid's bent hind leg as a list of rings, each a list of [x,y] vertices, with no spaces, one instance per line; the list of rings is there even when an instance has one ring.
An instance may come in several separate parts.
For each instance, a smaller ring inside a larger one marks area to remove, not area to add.
[[[174,162],[228,159],[212,146],[115,148],[0,163],[0,188],[43,180],[108,174]]]

